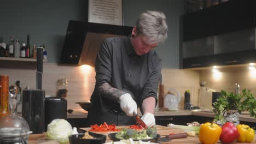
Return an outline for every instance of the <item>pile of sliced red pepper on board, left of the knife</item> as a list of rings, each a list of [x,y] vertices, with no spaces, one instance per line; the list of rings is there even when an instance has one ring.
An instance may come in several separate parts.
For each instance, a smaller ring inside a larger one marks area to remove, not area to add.
[[[115,124],[107,124],[106,122],[104,122],[100,126],[97,124],[91,125],[91,129],[89,131],[107,132],[107,131],[119,131],[119,129],[115,129]]]

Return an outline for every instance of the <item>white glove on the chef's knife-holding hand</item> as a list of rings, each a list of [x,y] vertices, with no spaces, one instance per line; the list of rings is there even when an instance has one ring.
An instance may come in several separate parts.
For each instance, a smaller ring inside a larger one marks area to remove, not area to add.
[[[131,94],[125,93],[119,98],[121,109],[126,113],[127,116],[132,117],[137,115],[137,104],[132,99]]]

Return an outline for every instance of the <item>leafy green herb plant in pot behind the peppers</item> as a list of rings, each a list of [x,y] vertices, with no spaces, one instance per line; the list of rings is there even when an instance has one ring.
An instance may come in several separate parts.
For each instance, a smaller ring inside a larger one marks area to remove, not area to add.
[[[256,100],[250,90],[243,89],[242,93],[235,94],[233,92],[221,91],[221,97],[213,103],[214,121],[220,121],[224,124],[226,121],[239,124],[237,113],[248,111],[251,117],[256,118]]]

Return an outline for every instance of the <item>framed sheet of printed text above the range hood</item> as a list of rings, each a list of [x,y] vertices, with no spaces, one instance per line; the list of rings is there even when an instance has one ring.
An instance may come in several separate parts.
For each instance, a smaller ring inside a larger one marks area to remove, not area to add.
[[[122,0],[89,0],[88,21],[123,26]]]

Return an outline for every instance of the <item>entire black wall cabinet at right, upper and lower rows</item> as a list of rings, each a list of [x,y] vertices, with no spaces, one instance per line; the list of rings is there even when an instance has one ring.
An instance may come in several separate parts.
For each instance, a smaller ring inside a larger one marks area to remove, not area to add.
[[[255,5],[230,0],[183,15],[181,68],[256,62]]]

